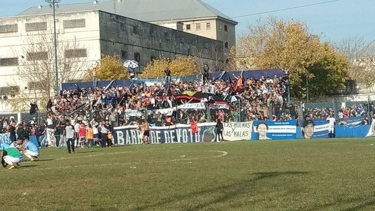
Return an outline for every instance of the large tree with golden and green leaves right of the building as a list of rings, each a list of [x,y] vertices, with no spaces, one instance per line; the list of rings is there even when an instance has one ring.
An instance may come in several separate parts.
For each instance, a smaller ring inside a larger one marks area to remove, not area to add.
[[[306,80],[310,95],[318,97],[343,89],[347,79],[346,57],[321,42],[302,22],[276,18],[258,21],[240,36],[236,51],[239,68],[287,70],[292,96],[298,99],[306,97]]]

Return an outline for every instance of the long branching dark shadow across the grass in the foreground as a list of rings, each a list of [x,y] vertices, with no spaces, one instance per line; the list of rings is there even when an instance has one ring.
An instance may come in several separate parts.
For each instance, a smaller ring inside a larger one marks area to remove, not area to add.
[[[301,172],[301,171],[286,171],[286,172],[257,172],[257,173],[252,173],[251,176],[253,178],[251,179],[246,179],[243,181],[239,182],[233,182],[231,184],[225,184],[225,185],[218,185],[215,187],[210,187],[206,188],[204,190],[200,191],[195,191],[195,192],[190,192],[186,194],[180,194],[176,195],[173,197],[168,197],[165,199],[161,199],[160,202],[153,203],[150,205],[142,205],[135,207],[134,210],[145,210],[149,208],[153,208],[155,206],[163,206],[167,205],[169,203],[174,203],[178,202],[180,200],[187,199],[189,197],[199,197],[201,195],[205,194],[220,194],[220,196],[216,197],[215,199],[210,199],[207,201],[203,201],[195,206],[190,206],[185,209],[181,209],[184,211],[195,211],[195,210],[200,210],[202,208],[205,208],[207,206],[210,206],[214,203],[220,203],[220,202],[225,202],[227,200],[236,198],[238,196],[241,196],[243,194],[249,193],[249,190],[256,185],[255,183],[266,178],[274,178],[278,176],[288,176],[288,175],[305,175],[308,174],[309,172]]]

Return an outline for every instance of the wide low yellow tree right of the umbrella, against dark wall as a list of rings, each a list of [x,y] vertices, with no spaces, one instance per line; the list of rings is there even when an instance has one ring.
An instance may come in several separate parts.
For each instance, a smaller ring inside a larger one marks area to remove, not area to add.
[[[165,76],[164,70],[169,68],[171,75],[194,75],[199,74],[197,64],[191,56],[177,56],[175,59],[159,57],[149,62],[139,77],[157,78]]]

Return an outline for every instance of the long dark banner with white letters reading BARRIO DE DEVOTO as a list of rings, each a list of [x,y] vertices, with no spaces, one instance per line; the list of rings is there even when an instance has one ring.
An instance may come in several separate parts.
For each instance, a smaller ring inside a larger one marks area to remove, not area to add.
[[[114,128],[114,144],[136,145],[143,143],[143,134],[136,125]],[[150,127],[150,143],[214,142],[216,123],[198,124],[198,133],[193,134],[190,125],[177,124],[165,127]]]

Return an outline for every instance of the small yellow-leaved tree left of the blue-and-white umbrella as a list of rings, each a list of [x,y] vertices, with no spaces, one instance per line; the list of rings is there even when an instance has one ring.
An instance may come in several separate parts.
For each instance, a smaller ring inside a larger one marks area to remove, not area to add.
[[[96,70],[96,76],[99,80],[108,81],[130,78],[128,69],[124,67],[120,56],[117,54],[102,55],[102,58],[96,64]],[[92,80],[92,70],[89,70],[85,80]]]

